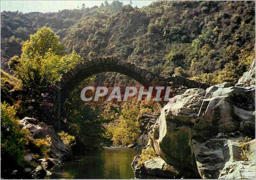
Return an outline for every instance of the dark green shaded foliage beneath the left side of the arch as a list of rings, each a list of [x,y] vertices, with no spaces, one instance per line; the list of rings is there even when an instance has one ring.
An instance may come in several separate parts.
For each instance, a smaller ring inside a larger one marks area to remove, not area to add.
[[[80,98],[82,88],[94,82],[95,77],[84,79],[69,95],[63,105],[63,129],[68,134],[76,137],[76,144],[72,146],[76,149],[93,149],[101,146],[105,140],[103,134],[105,129],[101,116],[100,103],[84,103]]]

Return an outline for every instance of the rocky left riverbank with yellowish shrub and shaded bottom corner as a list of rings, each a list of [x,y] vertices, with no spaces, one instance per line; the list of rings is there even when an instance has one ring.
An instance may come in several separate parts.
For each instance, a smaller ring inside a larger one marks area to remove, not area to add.
[[[28,138],[37,142],[40,151],[44,149],[43,155],[35,145],[28,145],[24,152],[24,166],[19,169],[7,169],[1,171],[1,177],[6,179],[42,179],[51,174],[51,169],[62,161],[72,159],[72,151],[67,146],[51,125],[42,124],[37,119],[25,117],[20,120],[20,127],[28,131]],[[47,150],[45,146],[46,141]],[[2,164],[3,165],[3,164]],[[10,171],[10,172],[9,172]]]

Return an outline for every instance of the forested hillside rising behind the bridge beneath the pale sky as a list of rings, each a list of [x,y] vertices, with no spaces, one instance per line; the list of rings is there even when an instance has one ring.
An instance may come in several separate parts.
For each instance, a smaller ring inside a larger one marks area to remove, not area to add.
[[[56,13],[4,11],[1,64],[6,70],[8,60],[20,55],[20,43],[47,26],[69,53],[75,50],[82,58],[116,55],[164,76],[236,81],[254,58],[254,6],[252,1],[159,1],[137,8],[114,1]]]

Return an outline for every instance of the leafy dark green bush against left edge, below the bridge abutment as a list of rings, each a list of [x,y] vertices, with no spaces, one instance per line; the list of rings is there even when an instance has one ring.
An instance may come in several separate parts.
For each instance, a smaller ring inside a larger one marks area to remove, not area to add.
[[[16,110],[1,103],[1,170],[24,167],[24,150],[28,144],[28,131],[21,130]]]

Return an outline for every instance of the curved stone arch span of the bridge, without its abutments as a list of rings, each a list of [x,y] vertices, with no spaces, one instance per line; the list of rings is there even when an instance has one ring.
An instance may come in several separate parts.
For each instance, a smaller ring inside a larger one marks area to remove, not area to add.
[[[101,72],[119,72],[135,79],[146,88],[156,84],[159,79],[156,74],[115,56],[95,58],[92,61],[78,64],[76,68],[70,69],[62,75],[56,83],[59,103],[63,103],[68,98],[69,93],[84,79]]]

